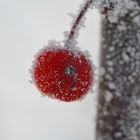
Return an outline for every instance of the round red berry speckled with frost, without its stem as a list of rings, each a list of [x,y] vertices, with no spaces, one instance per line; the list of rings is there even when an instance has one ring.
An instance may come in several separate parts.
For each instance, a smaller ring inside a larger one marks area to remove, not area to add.
[[[87,94],[92,86],[93,70],[81,51],[48,48],[36,58],[33,77],[43,94],[70,102]]]

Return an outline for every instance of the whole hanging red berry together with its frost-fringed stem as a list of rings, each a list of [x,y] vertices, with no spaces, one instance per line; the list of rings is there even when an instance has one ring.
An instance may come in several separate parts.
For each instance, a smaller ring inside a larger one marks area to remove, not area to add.
[[[94,68],[90,55],[77,47],[79,30],[92,4],[93,0],[84,0],[78,15],[69,14],[73,17],[72,27],[70,32],[63,32],[64,40],[49,41],[36,55],[32,78],[43,95],[71,102],[84,98],[92,88]]]

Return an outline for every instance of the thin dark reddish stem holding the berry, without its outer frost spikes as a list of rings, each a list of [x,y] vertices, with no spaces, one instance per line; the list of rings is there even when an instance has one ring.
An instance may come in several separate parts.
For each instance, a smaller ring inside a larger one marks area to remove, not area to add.
[[[75,34],[77,33],[77,29],[78,29],[78,25],[81,21],[81,19],[83,18],[83,16],[86,14],[88,8],[90,7],[90,5],[92,4],[93,0],[87,0],[87,2],[85,3],[85,5],[83,6],[83,8],[81,9],[80,13],[78,14],[71,30],[70,30],[70,33],[68,35],[68,39],[65,43],[65,46],[69,48],[72,40],[74,39],[75,37]]]

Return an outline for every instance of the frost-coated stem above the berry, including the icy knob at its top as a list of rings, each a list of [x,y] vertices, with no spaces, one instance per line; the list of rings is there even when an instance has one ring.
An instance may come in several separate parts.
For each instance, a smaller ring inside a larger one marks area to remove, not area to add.
[[[86,12],[93,7],[97,7],[102,14],[107,14],[112,11],[116,5],[116,0],[83,0],[80,4],[80,8],[77,14],[68,13],[72,17],[71,30],[64,32],[64,45],[74,47],[78,44],[77,38],[79,36],[79,30],[85,27]]]

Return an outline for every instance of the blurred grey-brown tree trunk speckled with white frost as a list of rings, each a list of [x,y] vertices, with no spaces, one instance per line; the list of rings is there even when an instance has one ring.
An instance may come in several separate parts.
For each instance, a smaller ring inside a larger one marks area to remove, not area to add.
[[[102,19],[97,140],[140,140],[140,0]]]

